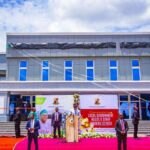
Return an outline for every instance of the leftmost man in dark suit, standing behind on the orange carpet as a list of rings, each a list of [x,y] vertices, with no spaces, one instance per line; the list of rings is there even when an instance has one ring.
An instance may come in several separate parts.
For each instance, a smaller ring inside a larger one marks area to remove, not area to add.
[[[19,107],[16,108],[14,122],[15,122],[15,135],[16,135],[16,138],[19,138],[20,137],[20,123],[21,123],[21,113],[20,113]]]

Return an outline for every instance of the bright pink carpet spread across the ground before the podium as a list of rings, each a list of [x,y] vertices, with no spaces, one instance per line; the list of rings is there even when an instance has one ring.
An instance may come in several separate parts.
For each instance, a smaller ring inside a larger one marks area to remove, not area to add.
[[[150,138],[140,139],[128,138],[127,150],[150,150]],[[79,143],[63,143],[61,139],[39,139],[39,150],[117,150],[117,139],[105,138],[85,138],[80,139]],[[18,143],[15,150],[27,150],[27,139]],[[34,145],[32,143],[32,150]]]

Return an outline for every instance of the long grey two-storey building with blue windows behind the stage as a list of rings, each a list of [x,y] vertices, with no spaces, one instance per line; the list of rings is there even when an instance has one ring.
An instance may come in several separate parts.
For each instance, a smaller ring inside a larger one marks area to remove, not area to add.
[[[126,119],[135,103],[150,118],[150,33],[8,33],[0,66],[1,121],[20,101],[74,93],[117,94]]]

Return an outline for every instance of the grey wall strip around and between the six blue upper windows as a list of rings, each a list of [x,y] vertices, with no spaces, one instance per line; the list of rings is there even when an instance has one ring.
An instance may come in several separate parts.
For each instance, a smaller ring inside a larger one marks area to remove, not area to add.
[[[86,58],[23,58],[9,59],[8,61],[8,80],[16,81],[19,79],[19,62],[27,60],[27,80],[41,80],[42,60],[50,63],[49,80],[64,80],[64,61],[73,61],[73,80],[86,80],[86,61],[94,60],[95,80],[109,80],[109,60],[118,60],[118,80],[132,80],[132,59],[136,57],[86,57]],[[140,57],[141,80],[150,80],[149,57]]]

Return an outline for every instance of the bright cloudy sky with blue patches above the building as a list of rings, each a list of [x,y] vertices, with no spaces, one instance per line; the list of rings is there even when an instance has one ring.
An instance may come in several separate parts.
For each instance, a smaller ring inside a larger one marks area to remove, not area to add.
[[[0,0],[0,51],[7,32],[148,32],[150,0]]]

